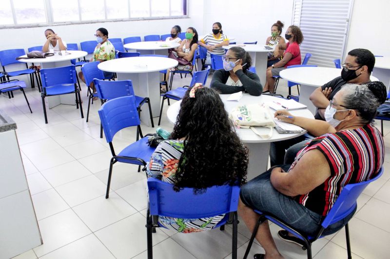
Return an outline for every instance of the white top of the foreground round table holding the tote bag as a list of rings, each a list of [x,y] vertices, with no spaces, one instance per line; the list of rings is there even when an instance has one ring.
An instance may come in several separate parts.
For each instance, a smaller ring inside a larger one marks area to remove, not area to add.
[[[230,96],[230,94],[220,94],[219,96],[221,97],[223,103],[225,104],[225,109],[228,113],[230,113],[230,111],[232,111],[238,105],[253,104],[253,103],[269,103],[277,99],[277,97],[273,97],[269,95],[252,96],[249,95],[248,93],[243,93],[240,101],[236,102],[236,101],[226,101]],[[180,110],[180,104],[181,101],[171,104],[171,106],[169,106],[167,110],[168,120],[171,121],[172,123],[176,122],[176,116]],[[273,113],[274,111],[271,109],[271,112]],[[302,116],[302,117],[314,119],[314,116],[308,109],[295,110],[295,111],[291,111],[291,113],[292,115],[295,116]],[[269,128],[264,128],[264,127],[256,127],[256,129],[260,134],[267,134],[270,131]],[[304,131],[298,134],[279,134],[275,129],[273,129],[272,138],[262,139],[261,137],[254,134],[254,132],[251,129],[243,129],[243,128],[238,129],[235,127],[235,131],[238,137],[245,143],[261,143],[261,142],[264,143],[264,142],[280,141],[280,140],[295,138],[306,133],[306,131]]]

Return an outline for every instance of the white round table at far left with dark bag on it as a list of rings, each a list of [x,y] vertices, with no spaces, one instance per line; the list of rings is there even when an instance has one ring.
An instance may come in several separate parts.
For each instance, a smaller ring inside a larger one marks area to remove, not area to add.
[[[66,53],[69,54],[63,56],[63,55],[59,55],[59,52],[55,52],[54,56],[49,56],[45,58],[34,58],[34,59],[19,59],[19,61],[25,63],[40,64],[41,69],[51,69],[51,68],[70,66],[72,65],[72,63],[70,63],[70,60],[78,59],[80,57],[85,57],[86,55],[88,55],[88,53],[85,51],[66,51]],[[23,55],[20,57],[27,57],[27,55]],[[49,106],[49,109],[56,107],[59,104],[76,105],[74,94],[48,96],[45,99],[47,99],[47,104]]]

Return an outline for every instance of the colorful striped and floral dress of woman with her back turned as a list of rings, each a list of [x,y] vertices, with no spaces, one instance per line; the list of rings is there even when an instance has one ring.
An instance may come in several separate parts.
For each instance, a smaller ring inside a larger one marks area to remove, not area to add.
[[[170,139],[161,142],[153,153],[150,162],[146,165],[146,172],[149,177],[159,178],[163,182],[174,184],[178,163],[183,151],[183,140]],[[225,214],[201,219],[160,216],[158,217],[158,223],[177,232],[191,233],[212,229],[224,217]]]

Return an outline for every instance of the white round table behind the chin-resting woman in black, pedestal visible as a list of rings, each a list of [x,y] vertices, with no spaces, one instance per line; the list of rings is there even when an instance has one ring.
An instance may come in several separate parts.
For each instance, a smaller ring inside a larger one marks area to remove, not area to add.
[[[259,44],[235,44],[235,45],[229,45],[229,46],[223,46],[225,50],[229,50],[232,47],[241,47],[246,52],[249,52],[252,58],[252,66],[256,68],[256,73],[260,78],[261,84],[264,86],[266,83],[266,70],[267,70],[267,61],[268,61],[268,52],[273,51],[267,50],[265,48],[265,45],[259,45]],[[274,48],[272,46],[267,46]]]

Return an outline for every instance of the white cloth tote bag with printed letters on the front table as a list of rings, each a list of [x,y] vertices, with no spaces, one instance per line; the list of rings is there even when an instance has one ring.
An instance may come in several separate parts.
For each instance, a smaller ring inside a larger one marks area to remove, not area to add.
[[[271,113],[268,105],[265,104],[245,104],[234,108],[230,114],[229,119],[233,121],[238,128],[251,128],[255,134],[261,138],[268,139],[272,137],[273,127],[273,113]],[[260,134],[253,126],[262,126],[270,129],[268,134]]]

